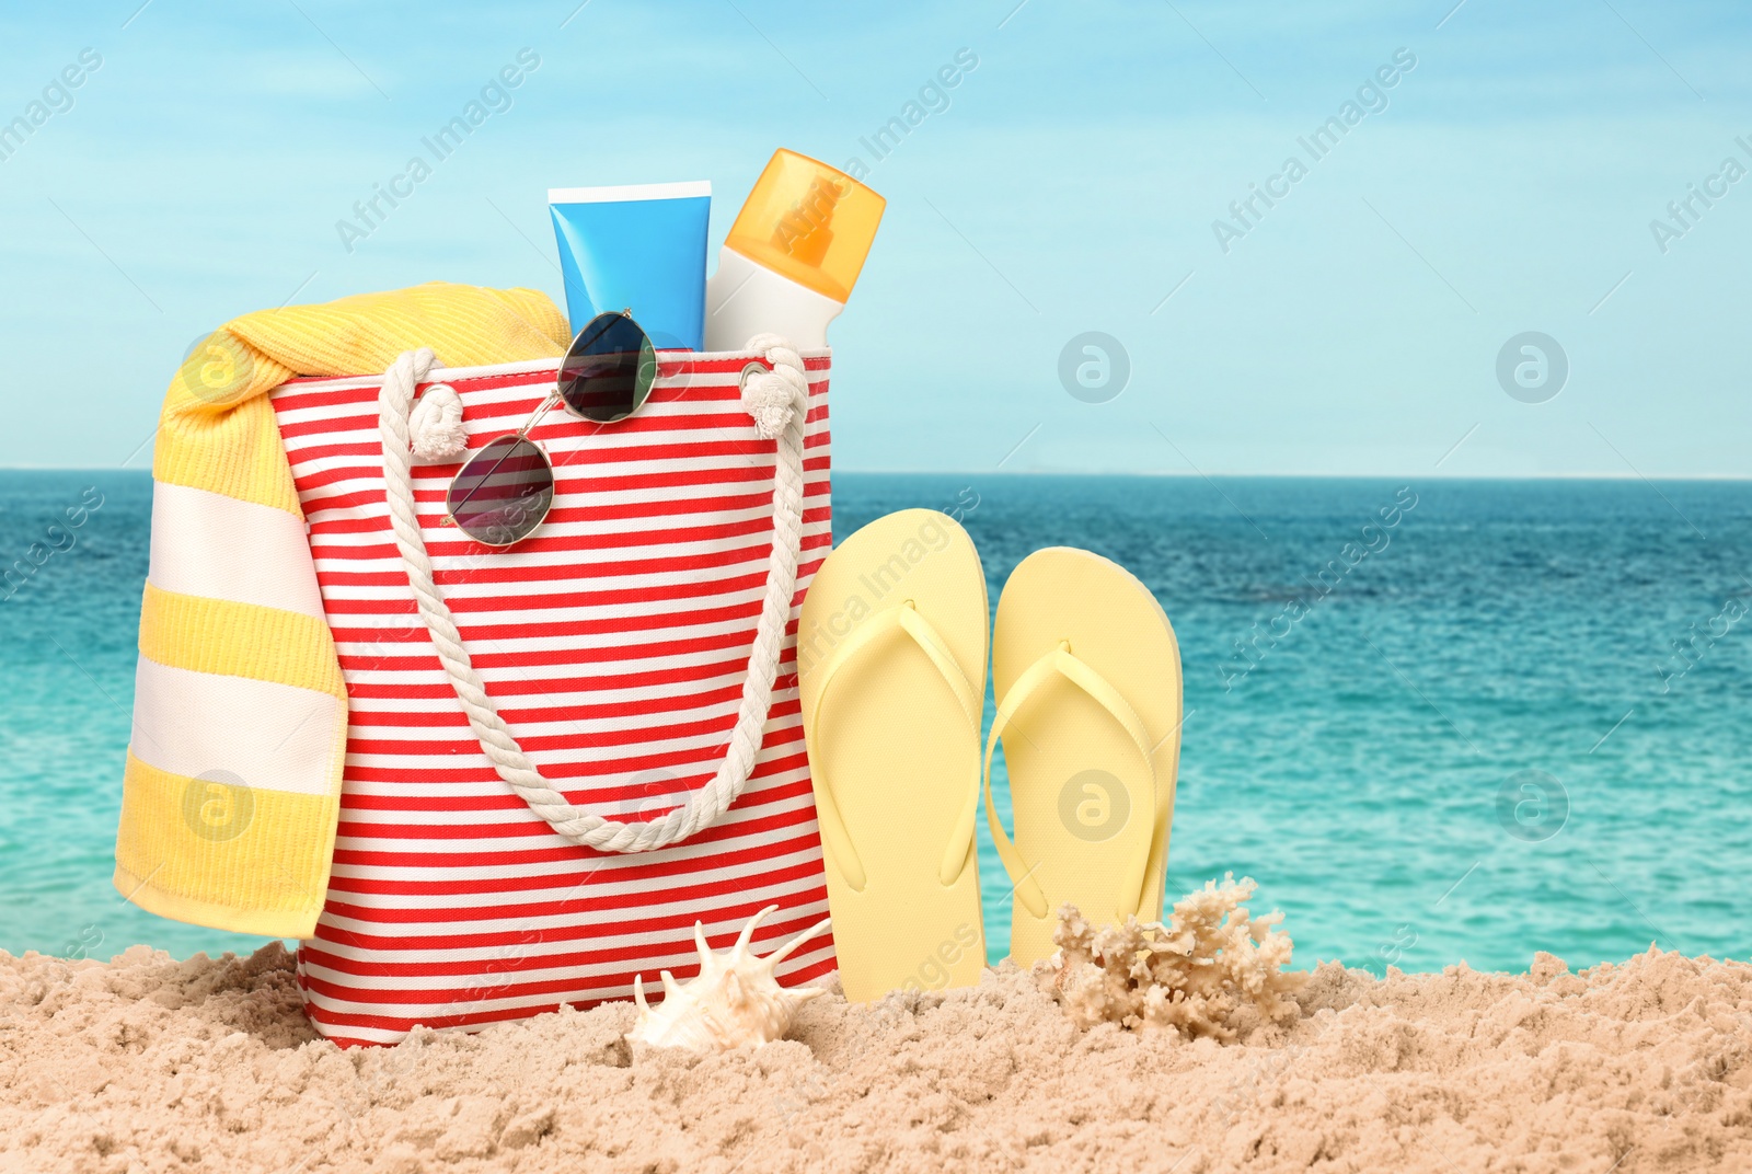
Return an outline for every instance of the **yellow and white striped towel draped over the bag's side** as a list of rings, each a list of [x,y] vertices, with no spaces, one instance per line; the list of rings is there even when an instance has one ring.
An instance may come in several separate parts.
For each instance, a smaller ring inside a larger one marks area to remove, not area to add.
[[[529,289],[429,282],[247,314],[182,364],[152,457],[133,736],[116,888],[179,922],[308,937],[340,810],[347,690],[268,393],[552,357],[569,331]]]

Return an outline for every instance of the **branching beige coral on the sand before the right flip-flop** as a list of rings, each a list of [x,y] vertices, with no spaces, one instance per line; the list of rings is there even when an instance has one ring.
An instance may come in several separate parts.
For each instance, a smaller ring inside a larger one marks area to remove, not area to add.
[[[1186,1039],[1233,1041],[1247,1020],[1288,1023],[1307,974],[1286,972],[1293,943],[1282,913],[1254,918],[1258,885],[1233,873],[1174,902],[1169,923],[1093,927],[1076,906],[1058,911],[1058,951],[1035,967],[1041,987],[1088,1029],[1095,1023],[1167,1027]]]

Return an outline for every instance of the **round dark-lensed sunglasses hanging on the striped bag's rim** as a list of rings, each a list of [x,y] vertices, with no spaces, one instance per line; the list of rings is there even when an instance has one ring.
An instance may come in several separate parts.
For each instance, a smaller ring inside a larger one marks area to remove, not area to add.
[[[624,421],[657,382],[657,349],[632,310],[597,314],[571,340],[559,378],[515,433],[494,436],[471,456],[445,494],[445,522],[487,547],[527,538],[554,505],[554,463],[529,431],[555,403],[592,424]]]

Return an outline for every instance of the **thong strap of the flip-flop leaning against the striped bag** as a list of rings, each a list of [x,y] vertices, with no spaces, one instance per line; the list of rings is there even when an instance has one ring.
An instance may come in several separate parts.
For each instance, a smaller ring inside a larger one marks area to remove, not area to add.
[[[822,720],[822,713],[827,710],[827,694],[839,678],[841,669],[844,669],[853,657],[871,647],[872,641],[880,640],[887,633],[899,627],[902,633],[913,638],[927,657],[930,664],[937,669],[943,683],[950,687],[955,694],[955,701],[962,706],[962,713],[967,717],[967,725],[974,732],[974,745],[979,743],[979,708],[983,697],[974,692],[972,685],[967,683],[965,673],[962,673],[960,662],[957,662],[955,654],[937,634],[937,629],[930,626],[918,608],[911,601],[878,612],[869,620],[860,624],[851,636],[834,648],[834,654],[827,657],[827,664],[822,668],[822,690],[815,697],[815,711],[809,717],[809,746],[820,746],[822,736],[816,725]],[[899,734],[904,736],[904,734]],[[858,855],[857,846],[851,841],[851,832],[846,829],[844,818],[839,815],[839,803],[834,797],[832,780],[827,778],[827,755],[809,755],[809,774],[815,778],[815,820],[822,829],[822,841],[834,855],[834,866],[839,874],[846,880],[855,892],[864,892],[864,885],[869,876],[864,871],[864,859]],[[962,869],[967,867],[967,850],[972,846],[974,839],[974,820],[979,811],[979,778],[969,780],[967,803],[962,804],[960,813],[955,817],[955,829],[950,832],[950,841],[943,850],[943,862],[937,866],[937,880],[943,885],[953,885],[955,878],[960,876]]]

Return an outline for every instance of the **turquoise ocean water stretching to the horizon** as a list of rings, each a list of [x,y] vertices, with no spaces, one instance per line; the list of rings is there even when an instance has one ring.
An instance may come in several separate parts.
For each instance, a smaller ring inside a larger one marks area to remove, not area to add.
[[[1156,592],[1188,710],[1170,901],[1254,878],[1298,965],[1752,955],[1752,485],[839,475],[834,492],[839,536],[960,505],[993,606],[1044,545]],[[14,953],[261,943],[110,888],[149,510],[140,473],[0,471],[0,564],[56,548],[0,587]],[[981,874],[997,958],[1007,883],[983,829]]]

